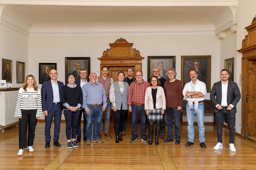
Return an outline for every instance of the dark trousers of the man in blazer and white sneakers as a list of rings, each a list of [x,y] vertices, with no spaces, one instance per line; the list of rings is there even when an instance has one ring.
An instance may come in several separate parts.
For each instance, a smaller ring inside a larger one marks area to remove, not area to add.
[[[222,127],[224,125],[224,119],[227,120],[227,125],[229,128],[229,135],[230,135],[230,143],[235,142],[235,120],[236,115],[235,113],[231,113],[230,111],[227,111],[226,108],[221,109],[218,113],[215,113],[216,115],[216,122],[217,122],[217,138],[218,142],[222,143]]]

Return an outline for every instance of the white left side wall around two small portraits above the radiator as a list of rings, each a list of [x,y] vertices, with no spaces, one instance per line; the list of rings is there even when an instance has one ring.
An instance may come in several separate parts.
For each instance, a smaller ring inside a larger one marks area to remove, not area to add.
[[[17,84],[17,61],[25,62],[25,75],[28,74],[28,49],[29,37],[0,24],[0,70],[2,73],[2,58],[12,60],[12,87],[23,85]]]

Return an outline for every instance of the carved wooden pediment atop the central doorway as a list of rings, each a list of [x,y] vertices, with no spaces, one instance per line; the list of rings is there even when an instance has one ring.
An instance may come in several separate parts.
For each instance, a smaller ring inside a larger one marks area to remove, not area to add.
[[[119,38],[114,43],[110,43],[110,49],[103,52],[101,58],[140,58],[140,51],[132,48],[133,43]]]

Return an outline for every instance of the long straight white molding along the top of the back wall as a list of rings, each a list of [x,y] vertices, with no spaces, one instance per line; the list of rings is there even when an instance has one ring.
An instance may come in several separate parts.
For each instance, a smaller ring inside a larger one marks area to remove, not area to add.
[[[30,32],[29,37],[215,35],[214,30]]]

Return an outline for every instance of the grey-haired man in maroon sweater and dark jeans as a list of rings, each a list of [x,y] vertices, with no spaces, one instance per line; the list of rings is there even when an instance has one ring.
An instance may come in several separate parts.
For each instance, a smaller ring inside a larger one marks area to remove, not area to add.
[[[183,103],[183,86],[180,80],[175,79],[177,72],[174,68],[166,71],[169,81],[164,82],[163,90],[166,96],[166,126],[168,127],[167,139],[163,142],[173,141],[173,123],[175,123],[175,144],[180,144],[180,110]]]

